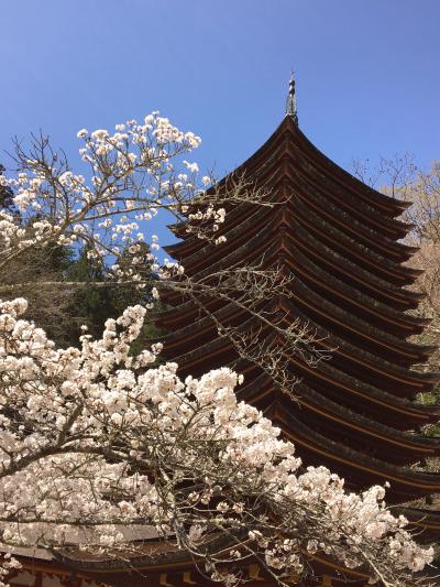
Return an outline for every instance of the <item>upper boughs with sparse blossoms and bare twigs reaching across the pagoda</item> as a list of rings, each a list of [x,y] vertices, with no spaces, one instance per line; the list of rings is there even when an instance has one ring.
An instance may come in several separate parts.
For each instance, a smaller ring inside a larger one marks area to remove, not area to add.
[[[30,295],[32,282],[16,272],[18,262],[30,252],[57,247],[82,247],[92,263],[106,267],[102,281],[78,283],[63,279],[66,291],[76,287],[136,287],[151,306],[161,291],[172,290],[193,300],[221,336],[233,344],[239,357],[265,369],[278,385],[292,393],[295,381],[285,368],[285,357],[300,354],[310,365],[326,357],[328,348],[300,320],[284,324],[268,315],[267,302],[290,296],[292,278],[282,269],[268,269],[264,259],[252,267],[223,268],[189,278],[178,262],[160,262],[157,236],[150,227],[158,210],[174,215],[179,230],[221,247],[228,229],[228,210],[237,206],[275,206],[271,194],[243,177],[218,185],[200,177],[197,163],[183,159],[200,144],[193,132],[183,132],[168,119],[153,112],[143,123],[129,120],[116,132],[82,129],[78,139],[84,175],[74,173],[63,153],[47,138],[34,137],[30,151],[16,142],[18,176],[0,175],[11,194],[15,213],[0,211],[0,271],[12,274],[0,285],[0,295]],[[86,177],[90,176],[90,181]],[[16,211],[18,210],[18,211]],[[118,261],[125,254],[125,261]],[[148,271],[145,271],[147,265]],[[42,291],[58,291],[56,280],[38,280]],[[218,302],[232,304],[255,323],[249,331],[234,329],[211,312]],[[258,329],[271,329],[277,339],[271,351],[252,344]]]

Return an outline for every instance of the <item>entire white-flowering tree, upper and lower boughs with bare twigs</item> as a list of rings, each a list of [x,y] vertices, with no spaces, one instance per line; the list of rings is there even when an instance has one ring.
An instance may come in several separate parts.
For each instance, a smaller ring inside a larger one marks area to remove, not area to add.
[[[142,124],[118,124],[114,133],[84,129],[78,138],[89,166],[85,175],[74,173],[44,137],[34,138],[30,152],[16,145],[18,176],[1,182],[12,189],[20,216],[0,213],[0,270],[53,243],[81,242],[97,264],[111,264],[128,248],[131,263],[113,263],[112,276],[96,286],[135,284],[153,298],[164,287],[193,295],[239,354],[292,393],[283,354],[300,354],[311,363],[322,357],[307,325],[284,328],[258,312],[262,301],[288,295],[289,279],[255,265],[190,280],[178,263],[160,263],[157,237],[146,229],[158,210],[167,210],[183,229],[221,246],[229,207],[273,206],[270,195],[240,177],[227,192],[212,177],[199,180],[197,164],[183,157],[200,139],[157,112]],[[143,279],[145,242],[154,282]],[[13,297],[0,303],[4,548],[75,545],[120,556],[135,553],[133,532],[153,532],[227,584],[239,581],[234,569],[254,557],[280,583],[304,574],[307,553],[321,553],[396,587],[413,585],[414,572],[432,561],[432,550],[405,530],[407,521],[387,510],[384,488],[358,496],[324,467],[300,471],[279,430],[238,402],[240,374],[224,368],[182,381],[177,365],[158,365],[160,344],[133,355],[150,303],[107,320],[101,339],[85,331],[79,348],[59,349],[24,318],[26,301],[16,292],[25,285],[0,286],[3,298]],[[246,334],[210,314],[201,300],[212,296],[248,308],[284,344],[268,360],[258,355]],[[208,550],[218,536],[227,547]],[[15,564],[7,559],[3,574]]]

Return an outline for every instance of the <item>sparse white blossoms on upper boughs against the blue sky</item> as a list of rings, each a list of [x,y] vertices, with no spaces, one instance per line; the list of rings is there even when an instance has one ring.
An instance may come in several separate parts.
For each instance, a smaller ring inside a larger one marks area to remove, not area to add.
[[[201,196],[210,178],[199,178],[197,163],[180,160],[199,146],[200,138],[177,129],[158,112],[141,123],[134,119],[119,123],[114,132],[81,129],[77,137],[84,142],[79,154],[89,170],[85,175],[74,173],[42,140],[30,153],[19,149],[21,171],[16,177],[0,176],[2,185],[12,189],[19,210],[15,215],[0,211],[0,263],[16,249],[75,242],[86,244],[88,257],[103,263],[129,247],[148,242],[148,262],[161,274],[155,253],[158,243],[146,230],[146,222],[161,209],[178,221],[188,221],[185,210],[189,205],[194,209],[195,198],[205,209]],[[224,209],[211,206],[208,215],[200,214],[204,226],[195,231],[218,241],[215,232],[224,221]],[[141,287],[145,284],[136,257],[133,259],[130,268],[119,267],[113,276],[138,282]],[[168,262],[165,276],[176,270],[178,264]]]

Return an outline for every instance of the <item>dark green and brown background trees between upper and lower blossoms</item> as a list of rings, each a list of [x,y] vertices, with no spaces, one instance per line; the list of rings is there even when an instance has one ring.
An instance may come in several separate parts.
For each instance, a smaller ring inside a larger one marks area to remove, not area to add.
[[[0,164],[0,175],[3,172],[4,167]],[[13,191],[8,186],[0,185],[0,210],[13,214],[18,224],[23,225],[13,203]],[[26,224],[26,229],[32,230],[32,222],[36,219],[37,215]],[[118,285],[111,272],[94,262],[87,253],[86,248],[78,251],[59,244],[32,248],[2,274],[4,285],[16,285],[10,297],[26,297],[30,303],[28,318],[42,326],[61,347],[78,344],[81,325],[88,327],[94,338],[99,338],[108,318],[117,318],[129,305],[154,302],[148,285],[144,290],[135,285]],[[151,269],[147,244],[139,243],[135,252],[128,247],[116,261],[121,269],[130,270],[134,257],[138,262],[135,273],[153,285],[156,276]],[[73,282],[79,285],[72,285]],[[51,286],[44,283],[51,283]],[[153,322],[146,322],[133,350],[142,350],[148,339],[162,334]]]

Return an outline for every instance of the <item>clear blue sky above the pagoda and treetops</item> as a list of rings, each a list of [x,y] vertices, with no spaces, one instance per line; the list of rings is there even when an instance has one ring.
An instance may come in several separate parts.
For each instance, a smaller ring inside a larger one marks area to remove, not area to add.
[[[1,151],[42,128],[75,162],[79,128],[158,109],[222,174],[275,130],[294,68],[300,127],[337,163],[440,157],[438,0],[1,4]]]

